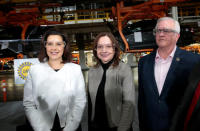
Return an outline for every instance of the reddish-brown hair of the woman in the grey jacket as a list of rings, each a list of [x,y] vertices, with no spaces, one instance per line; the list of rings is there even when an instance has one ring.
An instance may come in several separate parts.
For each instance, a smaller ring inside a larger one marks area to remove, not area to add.
[[[119,44],[118,44],[118,41],[115,39],[115,37],[113,36],[112,33],[110,32],[101,32],[99,33],[95,40],[94,40],[94,46],[93,46],[93,55],[94,57],[96,58],[96,65],[95,67],[99,66],[100,64],[100,59],[97,57],[97,45],[98,45],[98,41],[101,37],[104,37],[104,36],[107,36],[108,38],[110,38],[111,42],[112,42],[112,46],[113,46],[113,49],[115,51],[115,54],[114,54],[114,57],[113,57],[113,64],[112,66],[115,67],[115,66],[118,66],[119,64],[119,56],[120,56],[120,48],[119,48]]]

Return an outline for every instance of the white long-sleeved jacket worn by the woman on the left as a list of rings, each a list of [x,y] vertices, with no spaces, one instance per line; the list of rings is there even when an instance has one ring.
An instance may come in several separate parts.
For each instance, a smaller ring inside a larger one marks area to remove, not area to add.
[[[76,130],[85,103],[85,83],[79,65],[67,63],[58,72],[47,63],[31,66],[23,105],[35,131],[50,131],[56,112],[63,131]]]

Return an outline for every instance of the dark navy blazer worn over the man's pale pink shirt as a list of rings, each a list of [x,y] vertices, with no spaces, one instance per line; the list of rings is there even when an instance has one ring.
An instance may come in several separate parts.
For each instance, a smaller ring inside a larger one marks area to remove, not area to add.
[[[138,64],[138,111],[141,131],[168,131],[172,116],[187,85],[189,73],[200,55],[177,47],[163,89],[159,95],[155,77],[156,51],[144,56]]]

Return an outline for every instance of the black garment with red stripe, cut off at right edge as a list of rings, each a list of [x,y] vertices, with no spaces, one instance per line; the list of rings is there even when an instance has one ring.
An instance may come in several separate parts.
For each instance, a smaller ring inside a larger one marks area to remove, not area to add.
[[[178,106],[177,111],[173,118],[173,123],[170,131],[183,131],[185,118],[188,109],[192,102],[195,90],[200,82],[200,62],[194,67],[189,77],[189,85],[185,91],[181,104]],[[192,112],[192,116],[188,122],[187,131],[200,131],[200,99]]]

